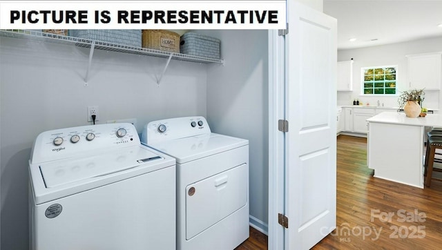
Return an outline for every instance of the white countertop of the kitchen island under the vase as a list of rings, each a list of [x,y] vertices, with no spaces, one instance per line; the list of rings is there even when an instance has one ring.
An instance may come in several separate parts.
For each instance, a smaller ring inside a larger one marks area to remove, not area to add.
[[[405,113],[383,112],[367,119],[367,122],[442,127],[442,115],[427,114],[425,117],[410,118],[406,117]]]

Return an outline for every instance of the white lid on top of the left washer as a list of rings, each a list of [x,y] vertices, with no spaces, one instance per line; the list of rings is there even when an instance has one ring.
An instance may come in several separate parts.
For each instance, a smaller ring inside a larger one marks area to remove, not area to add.
[[[140,146],[121,148],[100,155],[90,155],[79,159],[46,162],[39,168],[46,188],[54,188],[71,182],[103,177],[127,169],[133,169],[164,157]]]

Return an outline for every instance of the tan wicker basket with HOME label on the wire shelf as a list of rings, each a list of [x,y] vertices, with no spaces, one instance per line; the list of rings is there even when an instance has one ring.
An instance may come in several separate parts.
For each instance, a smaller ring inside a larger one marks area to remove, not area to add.
[[[180,35],[169,30],[143,30],[142,47],[180,52]]]

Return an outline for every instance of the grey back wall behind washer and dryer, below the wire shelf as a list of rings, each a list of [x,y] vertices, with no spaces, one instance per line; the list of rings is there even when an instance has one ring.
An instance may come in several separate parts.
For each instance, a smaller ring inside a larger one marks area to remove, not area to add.
[[[99,122],[206,116],[206,64],[95,50],[84,87],[88,49],[0,38],[1,249],[28,249],[28,159],[37,135],[87,125],[86,107]],[[222,67],[220,65],[213,68]]]

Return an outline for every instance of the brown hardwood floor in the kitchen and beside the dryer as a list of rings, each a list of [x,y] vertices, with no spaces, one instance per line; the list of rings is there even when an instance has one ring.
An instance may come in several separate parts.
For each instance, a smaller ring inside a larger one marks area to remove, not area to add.
[[[336,230],[313,249],[442,249],[442,182],[373,177],[365,138],[339,135],[337,153]],[[267,236],[251,229],[237,249],[267,249]]]

